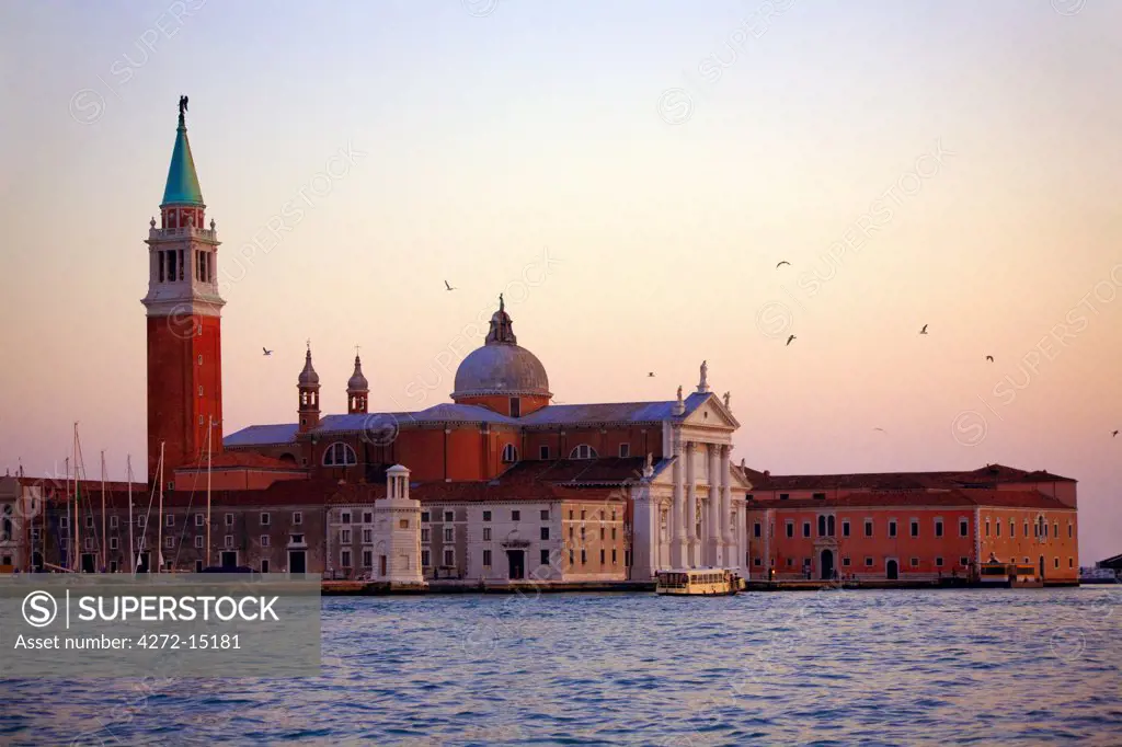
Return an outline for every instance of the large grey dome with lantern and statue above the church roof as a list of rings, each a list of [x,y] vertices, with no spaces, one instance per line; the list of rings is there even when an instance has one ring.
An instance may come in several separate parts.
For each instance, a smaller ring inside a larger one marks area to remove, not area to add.
[[[456,369],[452,399],[487,395],[552,396],[545,367],[517,344],[502,296],[484,347],[469,353]]]

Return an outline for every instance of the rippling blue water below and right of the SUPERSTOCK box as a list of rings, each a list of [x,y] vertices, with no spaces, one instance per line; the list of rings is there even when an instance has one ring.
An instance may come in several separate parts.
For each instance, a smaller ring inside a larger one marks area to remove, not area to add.
[[[0,681],[0,745],[1122,744],[1118,585],[327,598],[322,619],[313,680]]]

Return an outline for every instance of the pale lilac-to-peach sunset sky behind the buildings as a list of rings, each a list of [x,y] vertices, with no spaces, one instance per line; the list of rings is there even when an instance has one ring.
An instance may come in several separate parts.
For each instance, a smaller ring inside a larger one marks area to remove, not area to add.
[[[61,472],[77,422],[90,476],[142,477],[187,94],[227,434],[295,421],[305,340],[324,412],[355,345],[371,408],[447,402],[504,293],[557,400],[671,399],[705,359],[737,462],[1047,469],[1093,563],[1122,552],[1120,42],[1105,0],[3,3],[0,468]]]

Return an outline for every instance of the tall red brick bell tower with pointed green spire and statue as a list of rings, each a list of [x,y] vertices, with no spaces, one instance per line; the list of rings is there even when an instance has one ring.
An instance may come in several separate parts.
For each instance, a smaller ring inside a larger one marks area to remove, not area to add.
[[[148,295],[148,479],[157,477],[164,442],[164,480],[176,467],[222,450],[222,336],[226,302],[218,290],[218,232],[204,228],[195,163],[187,141],[187,98],[180,96],[167,186],[159,224],[149,222]],[[210,424],[213,423],[213,426]]]

